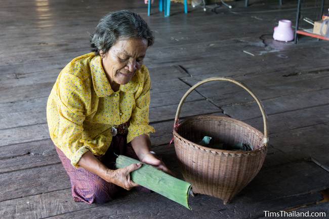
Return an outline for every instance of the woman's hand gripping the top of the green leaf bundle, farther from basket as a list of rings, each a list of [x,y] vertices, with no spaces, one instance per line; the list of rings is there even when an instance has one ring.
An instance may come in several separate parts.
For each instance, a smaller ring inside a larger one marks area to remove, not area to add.
[[[130,173],[136,169],[139,169],[141,166],[141,163],[134,163],[116,170],[108,169],[105,180],[126,190],[131,190],[132,188],[138,186],[138,184],[131,180]]]

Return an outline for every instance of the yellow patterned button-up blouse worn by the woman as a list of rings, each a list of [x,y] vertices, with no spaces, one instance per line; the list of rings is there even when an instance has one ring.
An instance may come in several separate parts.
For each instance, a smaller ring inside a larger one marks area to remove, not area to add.
[[[73,59],[60,72],[47,102],[47,122],[54,144],[78,167],[90,150],[103,155],[112,141],[111,127],[130,120],[127,142],[154,133],[149,123],[150,76],[143,65],[114,92],[100,56]]]

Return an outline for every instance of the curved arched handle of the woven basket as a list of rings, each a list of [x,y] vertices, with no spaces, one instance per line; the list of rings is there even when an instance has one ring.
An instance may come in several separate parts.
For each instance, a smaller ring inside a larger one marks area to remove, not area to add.
[[[263,116],[263,122],[264,122],[264,144],[267,145],[268,144],[268,125],[267,125],[267,115],[266,115],[266,112],[265,112],[265,109],[262,105],[262,103],[260,102],[260,100],[255,96],[255,94],[248,88],[246,87],[243,83],[239,82],[239,81],[236,81],[232,78],[229,78],[229,77],[210,77],[210,78],[207,78],[207,79],[204,79],[196,84],[194,84],[185,94],[184,96],[182,97],[181,101],[179,102],[179,105],[178,105],[178,108],[177,108],[177,111],[176,111],[176,116],[175,116],[175,123],[174,123],[174,128],[178,126],[178,119],[179,119],[179,114],[181,112],[181,108],[182,108],[182,105],[185,101],[185,99],[187,98],[187,96],[196,89],[196,87],[200,86],[201,84],[203,83],[207,83],[207,82],[210,82],[210,81],[230,81],[240,87],[242,87],[245,91],[247,91],[254,99],[255,101],[257,102],[258,106],[259,106],[259,109],[261,110],[261,113],[262,113],[262,116]]]

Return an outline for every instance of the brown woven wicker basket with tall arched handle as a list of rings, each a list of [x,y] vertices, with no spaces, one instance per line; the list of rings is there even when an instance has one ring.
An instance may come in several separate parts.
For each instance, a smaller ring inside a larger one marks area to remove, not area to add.
[[[216,115],[194,116],[178,123],[186,97],[196,87],[209,81],[230,81],[249,92],[256,100],[264,120],[264,135],[256,128],[239,120]],[[249,143],[252,151],[228,151],[196,144],[203,136],[211,136],[214,143]],[[192,184],[193,192],[215,196],[229,202],[250,183],[261,169],[268,144],[267,117],[258,98],[241,82],[231,78],[212,77],[196,83],[181,99],[175,117],[174,142],[182,165],[184,179]]]

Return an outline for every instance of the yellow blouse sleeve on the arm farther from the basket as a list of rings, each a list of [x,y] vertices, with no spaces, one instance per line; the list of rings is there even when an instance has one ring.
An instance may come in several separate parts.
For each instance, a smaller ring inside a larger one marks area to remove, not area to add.
[[[79,77],[63,73],[57,84],[57,92],[57,146],[77,168],[81,156],[89,150],[80,140],[84,130],[86,108],[90,102],[90,91]]]

